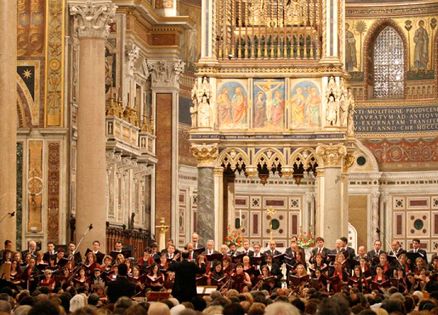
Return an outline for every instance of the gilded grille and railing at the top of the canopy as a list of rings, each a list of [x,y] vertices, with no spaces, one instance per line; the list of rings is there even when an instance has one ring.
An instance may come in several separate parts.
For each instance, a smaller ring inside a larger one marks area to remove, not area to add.
[[[217,1],[218,58],[319,59],[321,1]]]

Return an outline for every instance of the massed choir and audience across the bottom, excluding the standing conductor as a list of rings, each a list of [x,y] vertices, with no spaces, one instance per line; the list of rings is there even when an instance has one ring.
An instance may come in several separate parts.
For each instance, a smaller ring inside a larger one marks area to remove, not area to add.
[[[385,252],[376,240],[372,250],[359,246],[357,254],[344,237],[334,249],[318,237],[307,255],[296,237],[284,252],[275,241],[265,251],[258,243],[250,248],[248,240],[236,247],[217,251],[213,240],[204,247],[193,233],[181,250],[169,241],[162,251],[152,244],[132,257],[122,242],[105,254],[94,241],[82,256],[74,243],[48,243],[41,252],[30,241],[25,251],[13,252],[5,241],[0,315],[438,314],[438,256],[428,264],[418,239],[409,251],[393,241]],[[203,294],[178,301],[172,289],[182,258],[197,266],[193,281]]]

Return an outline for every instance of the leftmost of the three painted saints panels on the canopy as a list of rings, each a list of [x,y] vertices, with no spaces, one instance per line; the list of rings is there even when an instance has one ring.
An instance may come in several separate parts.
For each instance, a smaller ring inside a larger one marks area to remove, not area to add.
[[[218,82],[216,106],[221,129],[248,128],[248,92],[246,81]]]

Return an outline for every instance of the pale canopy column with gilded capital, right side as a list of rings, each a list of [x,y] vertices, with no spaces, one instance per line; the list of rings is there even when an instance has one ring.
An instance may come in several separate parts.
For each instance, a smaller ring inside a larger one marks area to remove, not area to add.
[[[316,235],[334,247],[336,239],[348,236],[348,194],[342,167],[347,149],[343,144],[319,145],[316,148],[317,209]]]

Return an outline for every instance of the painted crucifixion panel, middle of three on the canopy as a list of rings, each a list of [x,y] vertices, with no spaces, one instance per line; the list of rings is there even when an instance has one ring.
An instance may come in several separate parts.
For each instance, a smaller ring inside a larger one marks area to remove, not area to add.
[[[284,79],[255,79],[253,88],[253,128],[284,128]]]

